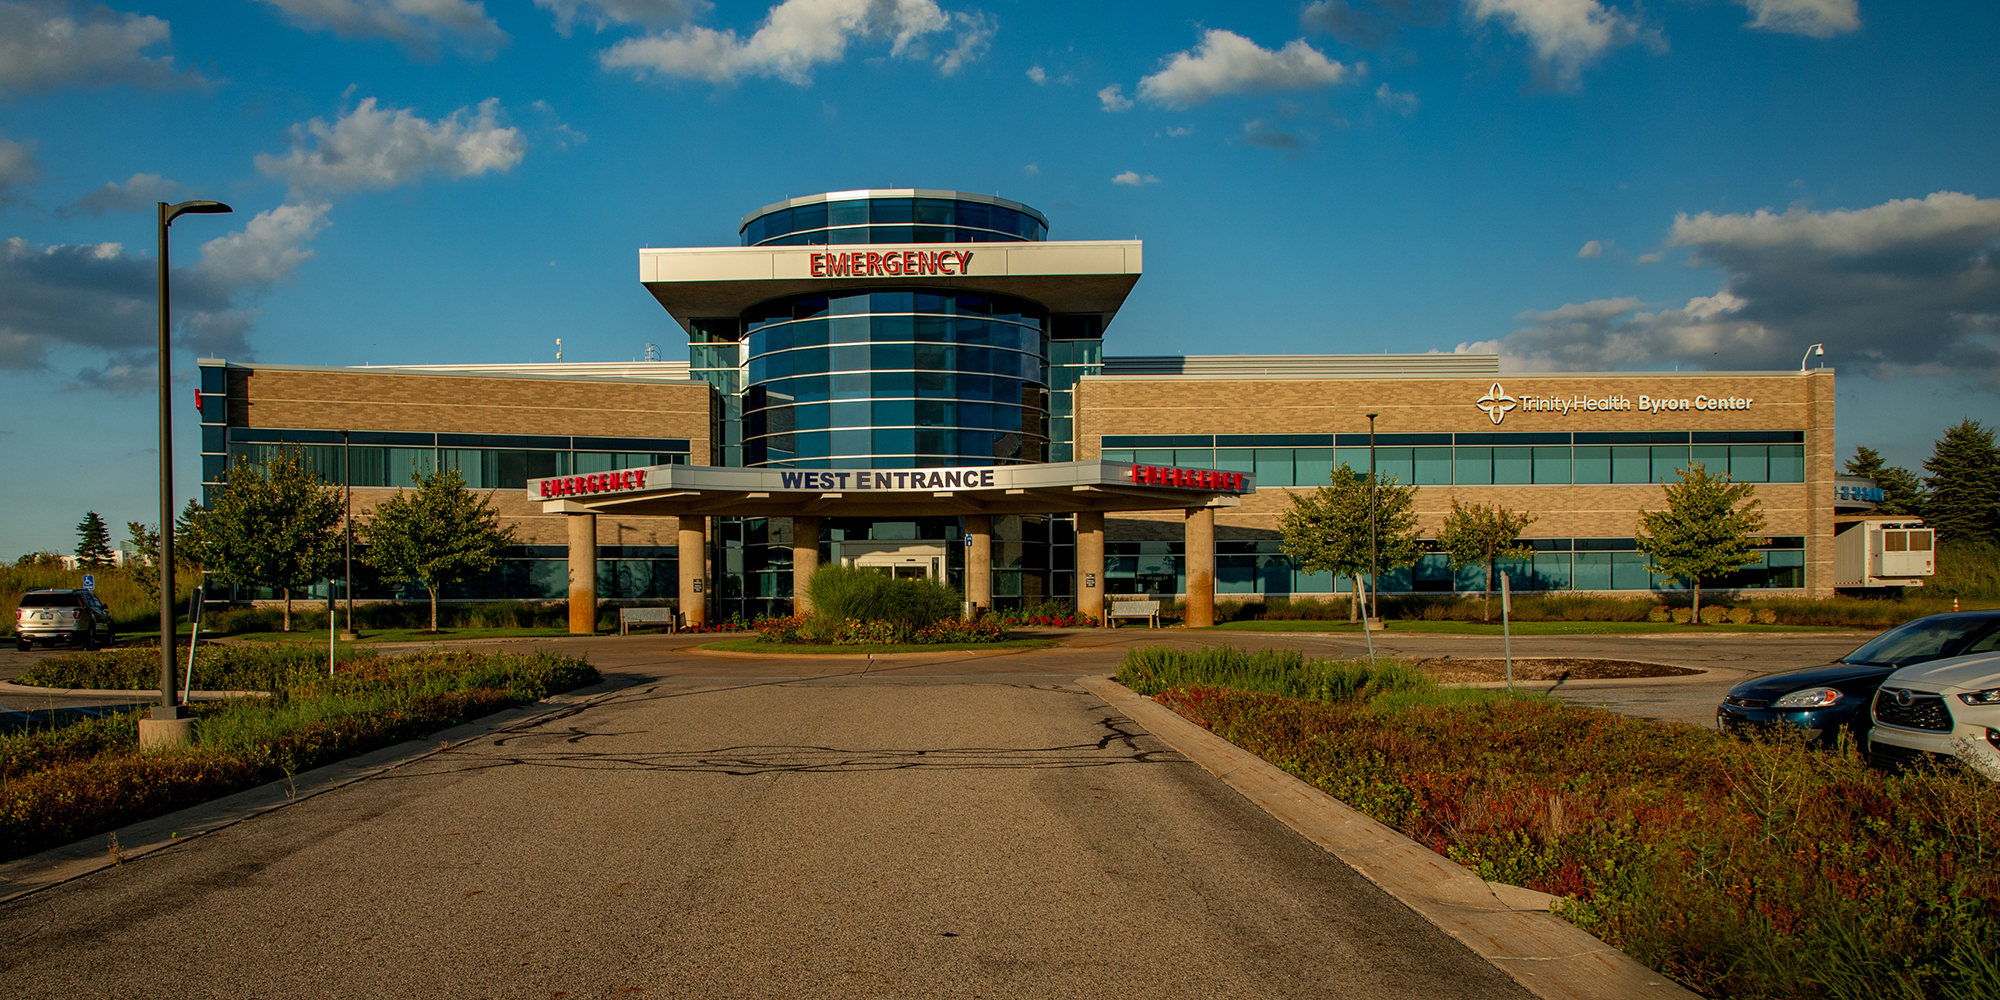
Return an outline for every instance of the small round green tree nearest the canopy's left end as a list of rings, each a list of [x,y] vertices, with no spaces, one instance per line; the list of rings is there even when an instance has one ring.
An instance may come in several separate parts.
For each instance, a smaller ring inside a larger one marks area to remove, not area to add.
[[[412,474],[416,492],[376,504],[360,526],[362,562],[384,580],[414,580],[430,594],[430,630],[438,630],[438,590],[490,572],[500,550],[514,544],[514,528],[500,526],[492,492],[476,496],[456,468]]]

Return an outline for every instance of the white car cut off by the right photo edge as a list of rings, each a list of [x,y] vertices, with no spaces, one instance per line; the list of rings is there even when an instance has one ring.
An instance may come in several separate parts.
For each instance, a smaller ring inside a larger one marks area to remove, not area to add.
[[[1880,768],[1962,760],[2000,778],[2000,654],[1906,666],[1874,696],[1868,760]]]

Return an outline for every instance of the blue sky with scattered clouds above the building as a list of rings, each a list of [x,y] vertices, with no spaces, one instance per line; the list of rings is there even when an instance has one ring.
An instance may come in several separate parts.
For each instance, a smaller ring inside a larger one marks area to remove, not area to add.
[[[628,360],[642,246],[822,190],[1146,240],[1114,354],[1840,368],[1840,446],[2000,418],[2000,10],[1862,0],[0,0],[0,554],[154,520],[176,374]],[[182,412],[178,490],[196,480]],[[122,536],[122,532],[118,532]]]

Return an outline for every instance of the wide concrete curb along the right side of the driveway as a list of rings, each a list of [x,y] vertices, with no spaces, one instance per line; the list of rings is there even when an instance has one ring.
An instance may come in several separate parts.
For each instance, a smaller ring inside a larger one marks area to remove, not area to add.
[[[1548,1000],[1696,1000],[1670,978],[1550,914],[1554,896],[1484,882],[1108,676],[1078,678],[1078,684],[1514,976],[1528,992]]]

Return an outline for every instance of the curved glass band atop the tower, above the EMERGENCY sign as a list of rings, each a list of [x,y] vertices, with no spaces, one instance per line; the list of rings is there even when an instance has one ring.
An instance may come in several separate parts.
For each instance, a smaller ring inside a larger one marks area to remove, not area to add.
[[[1028,206],[968,198],[848,198],[776,208],[742,226],[744,246],[992,244],[1046,240]]]

